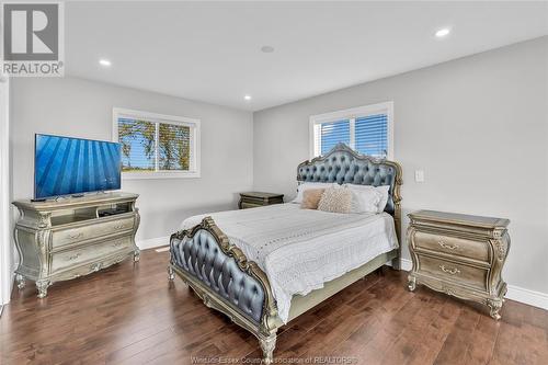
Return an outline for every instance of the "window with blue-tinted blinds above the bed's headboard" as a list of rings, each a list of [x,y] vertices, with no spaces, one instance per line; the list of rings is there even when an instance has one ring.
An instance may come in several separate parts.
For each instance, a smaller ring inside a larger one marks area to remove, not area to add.
[[[310,158],[344,142],[355,151],[392,158],[392,102],[353,107],[310,117]]]

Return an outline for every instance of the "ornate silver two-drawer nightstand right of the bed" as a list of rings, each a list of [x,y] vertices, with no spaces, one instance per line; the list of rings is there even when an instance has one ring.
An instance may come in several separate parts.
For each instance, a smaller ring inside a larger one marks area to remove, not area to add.
[[[499,320],[506,294],[501,272],[510,249],[510,220],[434,210],[414,212],[409,218],[409,289],[424,284],[478,301]]]

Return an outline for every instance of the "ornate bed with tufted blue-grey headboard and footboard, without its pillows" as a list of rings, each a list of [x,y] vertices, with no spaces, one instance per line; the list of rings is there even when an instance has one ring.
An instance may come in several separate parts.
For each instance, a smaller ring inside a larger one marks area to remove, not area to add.
[[[169,278],[176,274],[206,306],[253,333],[267,364],[282,326],[387,262],[400,267],[397,162],[340,144],[300,163],[297,181],[389,185],[388,202],[377,214],[287,203],[194,216],[170,239]]]

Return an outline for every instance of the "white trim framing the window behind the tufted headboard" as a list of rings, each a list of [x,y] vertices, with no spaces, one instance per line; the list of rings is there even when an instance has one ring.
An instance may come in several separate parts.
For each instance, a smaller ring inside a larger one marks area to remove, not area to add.
[[[310,159],[313,159],[315,157],[319,156],[319,151],[321,151],[320,146],[316,146],[315,144],[315,134],[318,132],[317,129],[319,128],[321,123],[328,123],[328,122],[336,122],[336,121],[342,121],[342,119],[350,119],[351,123],[351,145],[354,145],[354,139],[353,134],[354,134],[354,128],[353,125],[355,123],[355,119],[361,116],[366,116],[366,115],[372,115],[376,113],[386,113],[387,115],[387,138],[388,138],[388,151],[387,151],[387,159],[391,160],[393,159],[393,102],[384,102],[384,103],[378,103],[378,104],[372,104],[372,105],[365,105],[365,106],[357,106],[357,107],[351,107],[351,109],[345,109],[342,111],[336,111],[336,112],[331,112],[331,113],[324,113],[324,114],[317,114],[317,115],[311,115],[310,116],[310,124],[309,124],[309,157]],[[350,146],[351,148],[354,149],[354,146]]]

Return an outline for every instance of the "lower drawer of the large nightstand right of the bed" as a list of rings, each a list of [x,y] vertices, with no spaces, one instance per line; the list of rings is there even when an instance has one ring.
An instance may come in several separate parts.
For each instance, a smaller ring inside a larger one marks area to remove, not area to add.
[[[421,254],[419,254],[418,258],[419,273],[425,273],[439,280],[467,284],[482,290],[486,289],[488,276],[487,269],[472,267]]]

